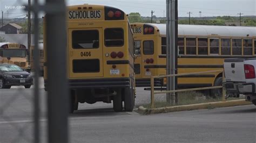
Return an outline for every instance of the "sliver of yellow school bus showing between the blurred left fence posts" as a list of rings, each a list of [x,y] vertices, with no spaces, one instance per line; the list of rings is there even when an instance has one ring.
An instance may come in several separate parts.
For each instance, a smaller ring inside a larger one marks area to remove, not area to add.
[[[43,75],[43,73],[44,73],[44,45],[43,45],[43,42],[38,43],[38,49],[39,49],[39,70],[40,70],[41,75]],[[31,66],[32,71],[35,71],[35,66],[33,63],[34,52],[35,52],[35,45],[31,45],[29,54],[30,54],[30,66]]]

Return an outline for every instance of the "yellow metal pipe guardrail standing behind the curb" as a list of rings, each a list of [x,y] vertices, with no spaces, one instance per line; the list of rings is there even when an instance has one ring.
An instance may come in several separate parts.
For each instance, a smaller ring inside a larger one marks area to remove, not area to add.
[[[172,75],[160,75],[160,76],[151,76],[151,109],[155,108],[154,104],[154,95],[156,94],[166,94],[166,93],[172,93],[172,92],[182,92],[182,91],[194,91],[194,90],[205,90],[205,89],[218,89],[218,88],[223,88],[222,90],[222,100],[226,101],[225,99],[225,91],[224,87],[221,86],[213,86],[213,87],[203,87],[203,88],[190,88],[190,89],[179,89],[179,90],[169,90],[169,91],[160,91],[160,92],[154,92],[154,78],[164,78],[164,77],[172,77],[172,76],[182,76],[182,75],[191,75],[191,74],[207,74],[207,73],[217,73],[217,72],[222,72],[223,73],[223,81],[224,81],[224,70],[211,70],[211,71],[200,71],[196,73],[183,73],[183,74],[172,74]]]

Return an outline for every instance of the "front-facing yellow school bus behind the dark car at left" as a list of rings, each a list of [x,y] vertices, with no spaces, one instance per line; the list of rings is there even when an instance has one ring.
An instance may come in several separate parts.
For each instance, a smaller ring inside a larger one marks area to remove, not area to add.
[[[30,72],[26,46],[18,43],[0,43],[0,63],[12,63]]]

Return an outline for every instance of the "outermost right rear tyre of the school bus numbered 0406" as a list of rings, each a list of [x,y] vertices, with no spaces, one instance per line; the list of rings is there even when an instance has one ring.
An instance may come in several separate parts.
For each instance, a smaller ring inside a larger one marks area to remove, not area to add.
[[[133,86],[132,88],[126,88],[125,91],[125,98],[124,98],[124,106],[125,111],[132,112],[134,108],[134,91]]]

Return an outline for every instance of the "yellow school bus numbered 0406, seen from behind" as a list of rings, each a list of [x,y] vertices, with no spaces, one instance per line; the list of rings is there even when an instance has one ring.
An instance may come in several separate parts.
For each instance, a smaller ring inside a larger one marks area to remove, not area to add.
[[[84,4],[68,6],[66,20],[71,112],[77,110],[78,102],[111,101],[114,111],[122,111],[123,102],[125,111],[132,111],[134,46],[126,14],[110,6]],[[44,55],[47,87],[46,66],[50,61],[45,50]]]

